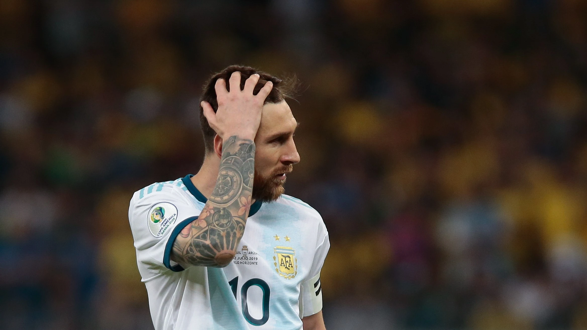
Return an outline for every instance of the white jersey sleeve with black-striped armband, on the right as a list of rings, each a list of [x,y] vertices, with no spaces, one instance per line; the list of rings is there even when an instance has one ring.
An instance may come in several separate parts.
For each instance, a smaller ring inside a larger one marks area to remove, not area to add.
[[[314,315],[322,310],[320,271],[330,249],[328,231],[326,231],[326,226],[322,222],[322,219],[318,228],[318,234],[318,244],[312,261],[312,267],[310,268],[309,280],[303,281],[300,288],[300,318]]]

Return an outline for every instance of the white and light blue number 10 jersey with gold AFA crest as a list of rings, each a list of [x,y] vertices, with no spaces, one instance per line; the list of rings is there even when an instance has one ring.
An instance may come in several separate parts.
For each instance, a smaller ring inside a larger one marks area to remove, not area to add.
[[[330,243],[318,211],[287,195],[255,202],[227,267],[176,264],[173,242],[207,201],[190,178],[151,184],[130,201],[155,329],[302,329],[301,318],[322,309],[320,271]]]

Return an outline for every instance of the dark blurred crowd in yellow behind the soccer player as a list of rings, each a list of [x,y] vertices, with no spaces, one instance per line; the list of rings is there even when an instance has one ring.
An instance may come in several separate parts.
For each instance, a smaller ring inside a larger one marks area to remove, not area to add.
[[[296,73],[329,329],[587,329],[587,1],[0,0],[0,328],[151,329],[131,194]]]

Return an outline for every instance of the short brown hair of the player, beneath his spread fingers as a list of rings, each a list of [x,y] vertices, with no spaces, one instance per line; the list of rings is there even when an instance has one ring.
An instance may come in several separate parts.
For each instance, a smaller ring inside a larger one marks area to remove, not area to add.
[[[295,78],[295,76],[287,79],[279,79],[275,76],[269,75],[269,73],[259,71],[255,68],[251,68],[250,66],[231,65],[222,70],[221,72],[216,73],[210,79],[208,79],[208,82],[206,82],[206,84],[204,85],[204,90],[202,96],[200,97],[200,103],[202,101],[210,103],[214,112],[217,112],[218,101],[216,99],[216,90],[214,89],[216,80],[221,78],[224,79],[227,82],[226,88],[230,92],[228,79],[230,79],[232,73],[237,71],[241,72],[241,89],[244,88],[245,81],[251,75],[257,73],[260,76],[259,82],[257,82],[257,85],[255,86],[255,89],[253,91],[254,95],[257,95],[257,93],[259,93],[259,90],[261,90],[261,88],[265,86],[266,82],[270,81],[273,83],[273,89],[271,89],[271,92],[266,97],[265,104],[279,103],[285,99],[291,99],[294,97],[295,89],[298,83],[298,80]],[[212,127],[210,127],[210,124],[208,124],[208,120],[204,116],[204,109],[201,105],[200,127],[202,129],[202,135],[204,136],[205,151],[208,153],[214,150],[214,136],[216,135],[216,132],[214,131],[214,129],[212,129]]]

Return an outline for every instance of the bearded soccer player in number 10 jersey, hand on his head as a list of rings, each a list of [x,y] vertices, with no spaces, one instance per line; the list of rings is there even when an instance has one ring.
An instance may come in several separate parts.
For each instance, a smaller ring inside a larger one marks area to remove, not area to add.
[[[284,194],[299,161],[289,91],[245,66],[212,76],[202,167],[134,193],[130,227],[156,330],[325,329],[328,232]]]

